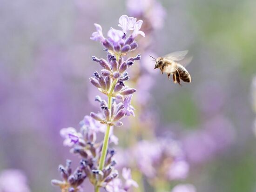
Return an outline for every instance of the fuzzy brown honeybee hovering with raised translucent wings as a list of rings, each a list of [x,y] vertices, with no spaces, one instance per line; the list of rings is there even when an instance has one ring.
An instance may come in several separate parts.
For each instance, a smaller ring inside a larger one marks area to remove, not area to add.
[[[163,57],[158,57],[157,59],[150,55],[149,56],[155,61],[155,69],[159,68],[161,70],[161,74],[167,73],[168,79],[170,79],[170,75],[172,74],[174,83],[178,83],[180,86],[182,86],[180,79],[182,79],[184,82],[190,83],[191,76],[187,69],[176,61],[183,60],[187,53],[187,50],[177,51],[169,53]]]

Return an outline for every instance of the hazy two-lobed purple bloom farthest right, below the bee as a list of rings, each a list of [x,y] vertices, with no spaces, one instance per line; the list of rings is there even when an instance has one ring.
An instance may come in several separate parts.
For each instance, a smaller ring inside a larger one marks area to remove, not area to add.
[[[202,163],[214,158],[230,146],[234,139],[234,128],[228,119],[218,116],[207,121],[200,131],[184,139],[184,149],[193,163]]]

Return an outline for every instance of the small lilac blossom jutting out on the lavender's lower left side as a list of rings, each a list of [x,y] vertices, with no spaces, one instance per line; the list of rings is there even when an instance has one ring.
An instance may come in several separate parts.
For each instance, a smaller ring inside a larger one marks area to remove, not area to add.
[[[64,138],[63,145],[64,146],[73,146],[77,144],[79,139],[82,138],[80,132],[76,132],[74,127],[63,128],[60,131],[61,137]]]

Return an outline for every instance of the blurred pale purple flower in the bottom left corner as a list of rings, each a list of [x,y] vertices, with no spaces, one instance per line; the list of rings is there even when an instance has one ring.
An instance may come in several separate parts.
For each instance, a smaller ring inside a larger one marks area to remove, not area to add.
[[[30,192],[24,173],[16,169],[0,172],[0,192]]]

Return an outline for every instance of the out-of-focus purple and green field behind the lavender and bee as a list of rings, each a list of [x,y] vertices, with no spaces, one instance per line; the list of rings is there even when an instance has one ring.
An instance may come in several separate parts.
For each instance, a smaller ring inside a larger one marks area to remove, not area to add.
[[[91,57],[105,53],[89,39],[93,24],[107,33],[104,28],[117,27],[122,14],[139,18],[135,10],[145,2],[0,0],[0,192],[15,185],[8,184],[12,174],[26,183],[15,192],[60,191],[50,184],[59,177],[58,165],[79,160],[63,146],[60,130],[78,127],[98,106],[88,78],[100,69]],[[154,159],[148,142],[168,151],[165,139],[172,138],[182,146],[189,171],[182,166],[169,180],[180,177],[179,183],[193,184],[197,192],[255,192],[255,0],[159,2],[162,7],[142,18],[151,39],[138,40],[142,60],[135,65],[143,76],[137,78],[135,70],[131,78],[139,107],[129,126],[115,129],[121,148],[131,145],[128,156]],[[148,55],[185,49],[193,56],[187,66],[192,82],[181,87],[154,70]],[[130,165],[121,148],[119,166]],[[143,152],[145,157],[138,156]],[[137,165],[143,177],[150,178],[155,161],[150,163]],[[145,191],[154,191],[152,179],[143,182]]]

